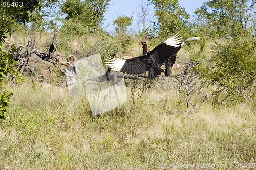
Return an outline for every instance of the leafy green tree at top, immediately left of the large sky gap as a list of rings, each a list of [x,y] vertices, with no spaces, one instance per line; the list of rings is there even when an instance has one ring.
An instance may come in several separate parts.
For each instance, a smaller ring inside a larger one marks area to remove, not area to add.
[[[95,33],[101,29],[109,1],[67,0],[60,5],[60,9],[62,13],[67,14],[66,20],[82,23],[89,32]]]

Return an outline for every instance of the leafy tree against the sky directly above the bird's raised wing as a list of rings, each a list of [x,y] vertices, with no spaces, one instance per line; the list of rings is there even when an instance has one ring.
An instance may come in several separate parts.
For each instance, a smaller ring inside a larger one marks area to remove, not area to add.
[[[150,3],[156,10],[156,27],[160,36],[169,36],[186,28],[190,16],[184,7],[179,5],[178,0],[152,0]]]

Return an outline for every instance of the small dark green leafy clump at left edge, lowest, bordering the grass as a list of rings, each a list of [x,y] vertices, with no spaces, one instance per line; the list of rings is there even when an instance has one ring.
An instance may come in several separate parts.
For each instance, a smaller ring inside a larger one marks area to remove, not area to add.
[[[7,112],[7,108],[10,104],[9,98],[12,95],[13,93],[9,93],[8,91],[3,91],[3,93],[0,94],[0,119],[4,118],[4,114]]]

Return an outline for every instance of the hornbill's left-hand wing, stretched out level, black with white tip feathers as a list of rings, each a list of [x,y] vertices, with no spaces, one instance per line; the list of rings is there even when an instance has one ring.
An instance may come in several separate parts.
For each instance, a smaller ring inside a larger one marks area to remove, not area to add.
[[[126,72],[127,74],[142,74],[150,69],[143,57],[134,57],[129,60],[107,58],[105,65],[114,71]]]

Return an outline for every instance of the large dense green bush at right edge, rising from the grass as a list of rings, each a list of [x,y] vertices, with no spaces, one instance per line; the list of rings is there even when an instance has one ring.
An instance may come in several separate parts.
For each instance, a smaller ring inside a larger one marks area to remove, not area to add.
[[[237,38],[226,45],[217,44],[217,48],[218,53],[212,57],[215,65],[206,68],[204,76],[224,87],[231,102],[245,99],[256,78],[256,41]]]

